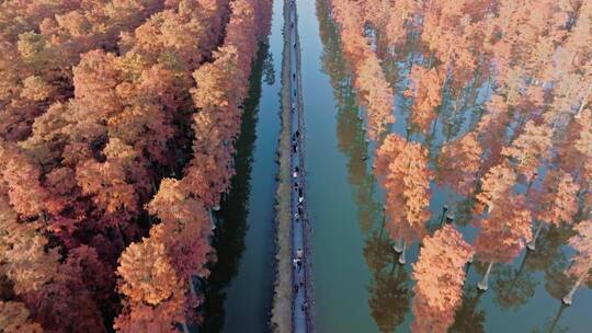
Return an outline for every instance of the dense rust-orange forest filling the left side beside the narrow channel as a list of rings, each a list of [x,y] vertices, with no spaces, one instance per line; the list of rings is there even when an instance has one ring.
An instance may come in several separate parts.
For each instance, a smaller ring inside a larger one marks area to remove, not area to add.
[[[200,323],[271,0],[0,4],[0,331]]]

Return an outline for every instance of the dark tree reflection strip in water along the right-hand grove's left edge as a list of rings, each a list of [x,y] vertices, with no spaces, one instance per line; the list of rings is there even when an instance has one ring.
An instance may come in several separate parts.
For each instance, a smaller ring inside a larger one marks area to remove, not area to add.
[[[353,191],[360,229],[368,236],[364,257],[373,273],[367,287],[371,313],[380,332],[392,332],[409,311],[411,283],[405,267],[397,264],[380,205],[373,198],[375,179],[367,164],[369,157],[364,124],[358,117],[352,77],[342,57],[341,41],[334,22],[328,15],[326,1],[317,1],[317,15],[323,44],[321,60],[337,102],[338,148],[348,159],[348,181]],[[378,226],[379,230],[376,230]]]

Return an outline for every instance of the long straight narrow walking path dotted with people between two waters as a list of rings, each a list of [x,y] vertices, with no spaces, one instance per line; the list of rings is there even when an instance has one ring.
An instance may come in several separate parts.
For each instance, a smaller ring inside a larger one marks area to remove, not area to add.
[[[309,232],[306,214],[306,171],[304,164],[304,120],[300,94],[300,47],[298,43],[298,21],[296,2],[289,5],[289,78],[291,102],[291,210],[292,210],[292,284],[294,297],[292,305],[293,332],[312,332],[310,315],[310,266],[308,264],[307,236]]]

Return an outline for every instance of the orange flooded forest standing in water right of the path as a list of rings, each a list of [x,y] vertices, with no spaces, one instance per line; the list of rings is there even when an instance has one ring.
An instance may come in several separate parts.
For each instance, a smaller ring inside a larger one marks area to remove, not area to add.
[[[420,243],[411,331],[447,332],[463,306],[468,265],[486,267],[482,292],[492,269],[542,251],[548,229],[571,234],[562,298],[571,305],[578,288],[592,284],[592,2],[329,3],[365,140],[376,142],[372,168],[399,263]],[[437,124],[444,113],[463,117],[476,100],[482,107],[465,128]],[[389,130],[401,122],[397,103],[409,108],[403,136]],[[436,127],[444,131],[440,146]],[[448,192],[435,228],[428,225],[434,186]],[[470,242],[446,215],[462,204],[477,229]]]

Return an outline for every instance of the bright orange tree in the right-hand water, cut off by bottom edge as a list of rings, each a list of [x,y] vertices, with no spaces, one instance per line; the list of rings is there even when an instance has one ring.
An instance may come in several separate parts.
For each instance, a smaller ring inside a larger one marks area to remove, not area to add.
[[[423,246],[413,264],[415,297],[412,332],[447,332],[463,301],[465,265],[473,249],[451,225],[423,239]]]

